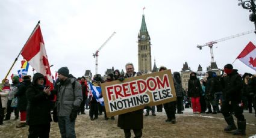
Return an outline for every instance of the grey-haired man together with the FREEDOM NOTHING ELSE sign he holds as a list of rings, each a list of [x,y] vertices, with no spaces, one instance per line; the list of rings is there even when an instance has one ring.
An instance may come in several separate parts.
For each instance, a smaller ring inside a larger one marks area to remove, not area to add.
[[[119,115],[117,126],[123,129],[125,137],[131,137],[131,130],[135,137],[142,137],[144,107],[176,100],[172,73],[164,70],[138,76],[131,63],[125,69],[120,81],[102,83],[105,109],[107,116]]]

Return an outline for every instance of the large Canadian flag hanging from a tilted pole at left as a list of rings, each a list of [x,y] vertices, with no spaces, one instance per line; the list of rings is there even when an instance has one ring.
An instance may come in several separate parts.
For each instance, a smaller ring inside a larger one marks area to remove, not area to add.
[[[28,38],[21,55],[30,63],[31,67],[33,67],[37,73],[42,73],[45,76],[46,85],[51,86],[51,89],[53,89],[52,74],[39,24],[34,29],[31,37]]]

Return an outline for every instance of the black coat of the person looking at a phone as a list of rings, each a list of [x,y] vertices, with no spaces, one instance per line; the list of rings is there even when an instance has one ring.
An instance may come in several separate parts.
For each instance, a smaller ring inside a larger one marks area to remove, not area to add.
[[[28,125],[48,124],[52,121],[51,99],[53,98],[53,94],[49,96],[39,86],[30,85],[26,91],[26,97],[28,99]]]

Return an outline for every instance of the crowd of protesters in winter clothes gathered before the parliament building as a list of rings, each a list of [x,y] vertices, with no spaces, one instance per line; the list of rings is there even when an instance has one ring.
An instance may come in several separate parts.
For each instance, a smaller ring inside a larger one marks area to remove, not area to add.
[[[92,83],[101,86],[104,82],[114,80],[122,82],[126,78],[142,75],[134,71],[132,63],[126,64],[125,69],[125,74],[115,70],[108,74],[105,80],[100,74],[96,74]],[[163,66],[159,68],[159,71],[164,70],[167,68]],[[240,76],[231,64],[226,64],[221,76],[217,76],[213,71],[207,71],[205,77],[197,77],[195,72],[190,73],[188,89],[185,90],[180,73],[173,72],[172,80],[176,101],[156,106],[157,112],[165,110],[167,116],[165,122],[175,124],[175,114],[182,114],[185,106],[185,108],[191,107],[194,114],[222,113],[228,124],[224,131],[245,135],[246,120],[243,110],[249,110],[249,113],[252,113],[252,108],[254,112],[256,110],[256,76],[249,73]],[[22,82],[19,82],[18,76],[14,76],[11,85],[9,80],[5,79],[0,92],[0,125],[3,121],[10,120],[11,113],[14,112],[15,120],[20,118],[17,128],[29,126],[28,137],[49,137],[50,122],[53,117],[54,122],[58,122],[61,137],[76,137],[76,117],[85,115],[86,109],[89,109],[92,121],[98,119],[102,112],[104,119],[109,119],[105,107],[93,97],[88,81],[84,76],[73,77],[67,67],[58,70],[54,89],[45,85],[45,76],[41,73],[34,74],[33,78],[23,76]],[[150,111],[152,116],[157,115],[155,106],[146,106],[145,109],[145,116],[149,116]],[[233,114],[237,118],[237,127]],[[111,116],[110,119],[115,118]],[[117,126],[123,129],[125,137],[131,137],[131,130],[134,131],[135,137],[142,137],[143,109],[119,115]]]

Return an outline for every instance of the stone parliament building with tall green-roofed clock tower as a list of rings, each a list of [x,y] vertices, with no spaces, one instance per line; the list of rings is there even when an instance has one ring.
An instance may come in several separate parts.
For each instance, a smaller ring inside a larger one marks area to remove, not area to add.
[[[155,64],[154,60],[154,67],[152,68],[152,61],[151,61],[151,38],[149,36],[148,29],[146,27],[146,21],[145,21],[145,15],[142,15],[142,24],[140,26],[140,31],[138,34],[138,70],[142,74],[147,74],[147,73],[154,73],[158,71],[157,65]],[[107,74],[113,73],[114,67],[108,68],[105,71],[104,79],[107,77]],[[217,75],[221,74],[221,70],[217,67],[216,62],[211,62],[210,66],[207,67],[207,71],[214,71]],[[121,74],[124,74],[124,71],[120,71]],[[198,77],[203,77],[205,78],[205,73],[206,71],[202,70],[201,65],[199,64],[198,70],[197,71],[192,71],[185,62],[183,64],[183,68],[181,68],[181,81],[183,88],[186,90],[188,88],[188,82],[189,82],[189,77],[190,73],[195,72]],[[87,79],[90,80],[92,78],[92,73],[90,73],[90,70],[86,70],[85,76]]]

